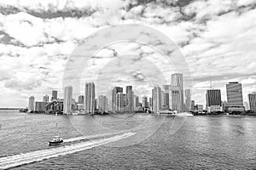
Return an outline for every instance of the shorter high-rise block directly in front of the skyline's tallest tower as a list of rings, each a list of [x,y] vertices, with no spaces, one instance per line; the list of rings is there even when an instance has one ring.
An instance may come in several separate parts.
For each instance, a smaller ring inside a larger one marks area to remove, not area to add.
[[[182,90],[178,86],[172,86],[169,94],[169,105],[172,111],[183,111]]]

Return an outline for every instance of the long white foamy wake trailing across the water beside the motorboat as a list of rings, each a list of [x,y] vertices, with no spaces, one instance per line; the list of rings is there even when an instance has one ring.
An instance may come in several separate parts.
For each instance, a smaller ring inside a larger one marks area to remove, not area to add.
[[[15,156],[6,156],[0,158],[0,168],[5,169],[9,167],[17,167],[20,165],[32,163],[35,161],[43,161],[56,156],[64,156],[67,154],[72,154],[81,150],[87,150],[102,144],[108,144],[110,142],[128,138],[135,133],[123,133],[113,137],[108,137],[105,139],[95,139],[86,142],[81,142],[79,144],[65,145],[58,148],[52,148],[49,150],[36,150],[28,152],[25,154],[19,154]]]

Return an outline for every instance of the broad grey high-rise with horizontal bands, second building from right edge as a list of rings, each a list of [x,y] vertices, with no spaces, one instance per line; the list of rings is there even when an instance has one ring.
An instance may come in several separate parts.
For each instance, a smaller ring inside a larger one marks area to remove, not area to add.
[[[226,84],[228,111],[244,111],[241,83]]]

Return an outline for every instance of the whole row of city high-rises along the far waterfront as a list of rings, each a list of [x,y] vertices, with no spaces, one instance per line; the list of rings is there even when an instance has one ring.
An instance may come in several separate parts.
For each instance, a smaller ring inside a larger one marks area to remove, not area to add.
[[[70,90],[68,90],[70,89]],[[252,111],[255,109],[255,93],[247,94],[249,102],[243,102],[242,96],[242,85],[239,82],[228,82],[226,84],[227,97],[223,99],[221,97],[221,90],[212,88],[206,90],[206,103],[196,104],[195,100],[191,99],[190,89],[183,89],[183,74],[174,73],[171,76],[171,84],[163,84],[162,88],[160,85],[154,85],[154,88],[151,89],[151,96],[143,95],[141,100],[139,96],[134,93],[131,85],[125,86],[125,92],[121,87],[113,87],[107,93],[107,95],[96,95],[96,86],[94,82],[86,82],[84,88],[84,95],[80,94],[76,102],[76,99],[73,99],[73,87],[65,87],[65,96],[64,96],[64,114],[72,113],[72,105],[81,105],[84,106],[80,109],[84,110],[86,114],[93,114],[94,111],[112,111],[112,112],[132,112],[136,111],[138,104],[142,108],[148,108],[150,111],[158,113],[164,110],[172,110],[177,112],[183,111],[194,111],[196,105],[200,105],[203,110],[207,112],[212,111],[247,111],[249,108],[252,108]],[[135,89],[136,90],[136,89]],[[57,97],[57,91],[52,91],[51,101],[54,101]],[[67,97],[68,96],[68,97]],[[96,97],[97,96],[97,97]],[[45,98],[49,99],[48,94],[43,96],[43,101],[35,102],[34,96],[29,98],[28,108],[44,107]],[[81,102],[83,100],[83,103]],[[151,102],[150,102],[151,100]],[[32,105],[35,102],[36,105]],[[140,102],[141,101],[141,102]],[[72,103],[73,102],[73,103]],[[193,103],[193,105],[191,105]],[[38,105],[38,106],[37,106]],[[43,105],[43,106],[39,106]],[[68,106],[67,106],[68,105]],[[67,109],[67,107],[69,109]],[[198,107],[198,106],[197,106]],[[76,106],[77,110],[79,106]],[[191,109],[193,108],[193,109]],[[198,108],[197,108],[198,109]],[[29,109],[31,110],[31,109]],[[202,109],[201,109],[202,110]],[[33,109],[32,109],[33,111]]]

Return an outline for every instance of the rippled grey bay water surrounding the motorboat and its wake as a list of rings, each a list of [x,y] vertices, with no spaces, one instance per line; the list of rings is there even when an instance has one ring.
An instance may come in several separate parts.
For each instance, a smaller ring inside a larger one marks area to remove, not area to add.
[[[23,165],[19,169],[255,167],[256,117],[187,117],[177,133],[172,133],[173,123],[174,117],[146,114],[120,119],[113,116],[89,118],[1,111],[0,157],[48,150],[48,141],[56,134],[63,139],[71,139],[81,133],[96,135],[136,129],[137,134],[129,138]]]

